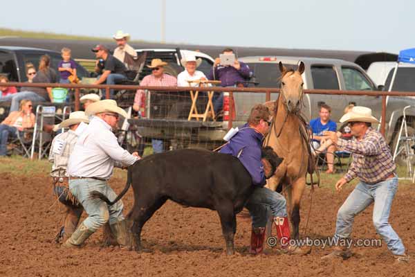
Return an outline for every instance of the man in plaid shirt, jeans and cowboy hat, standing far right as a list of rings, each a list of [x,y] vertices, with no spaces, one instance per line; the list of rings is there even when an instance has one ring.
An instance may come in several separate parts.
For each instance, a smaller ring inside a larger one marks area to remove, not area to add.
[[[389,224],[391,204],[398,189],[396,165],[391,150],[380,132],[371,128],[371,123],[379,121],[371,116],[367,107],[353,107],[349,113],[340,118],[341,123],[349,123],[353,139],[338,139],[335,132],[325,132],[331,141],[340,149],[353,154],[351,166],[336,184],[340,191],[344,184],[358,177],[360,182],[338,211],[335,235],[336,241],[348,240],[354,217],[374,203],[374,226],[376,232],[387,243],[388,249],[394,254],[397,262],[407,262],[409,256],[398,234]],[[344,256],[344,248],[335,250],[323,258]]]

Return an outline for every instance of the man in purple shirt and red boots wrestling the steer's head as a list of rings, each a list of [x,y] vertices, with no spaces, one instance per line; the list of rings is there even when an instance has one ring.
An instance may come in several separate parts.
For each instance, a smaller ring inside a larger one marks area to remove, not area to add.
[[[245,166],[252,177],[255,190],[246,203],[246,208],[252,217],[252,232],[250,253],[259,254],[264,250],[266,223],[269,212],[273,215],[273,222],[277,231],[278,240],[290,240],[290,227],[286,211],[286,199],[279,193],[265,188],[266,179],[272,177],[273,170],[269,163],[262,159],[261,148],[264,136],[270,129],[272,116],[268,107],[255,105],[248,117],[248,123],[243,125],[239,132],[232,136],[229,143],[221,148],[220,152],[232,154]],[[283,247],[284,253],[305,254],[299,247]]]

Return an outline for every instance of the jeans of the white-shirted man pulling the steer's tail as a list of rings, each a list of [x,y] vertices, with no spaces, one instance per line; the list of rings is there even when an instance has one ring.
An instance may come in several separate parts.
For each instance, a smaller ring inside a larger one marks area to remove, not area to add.
[[[109,221],[109,224],[116,224],[124,220],[122,209],[124,205],[121,200],[112,206],[101,199],[91,199],[89,193],[93,190],[98,190],[100,193],[107,196],[111,201],[116,199],[117,195],[106,181],[96,179],[69,179],[69,190],[73,196],[82,204],[84,210],[88,214],[84,220],[85,226],[91,231],[97,231],[102,225]]]

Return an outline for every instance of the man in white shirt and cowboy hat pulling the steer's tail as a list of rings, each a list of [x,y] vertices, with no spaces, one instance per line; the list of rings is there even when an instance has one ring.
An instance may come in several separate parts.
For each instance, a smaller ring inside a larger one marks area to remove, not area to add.
[[[112,129],[118,116],[127,118],[127,113],[114,100],[101,100],[89,105],[85,114],[94,115],[88,127],[78,137],[68,161],[69,190],[82,204],[89,215],[78,226],[65,247],[80,246],[90,235],[109,222],[111,232],[118,244],[127,245],[127,224],[122,215],[123,204],[112,206],[100,199],[92,199],[90,193],[98,190],[113,200],[116,193],[107,184],[113,174],[114,163],[131,166],[140,157],[137,152],[129,154],[118,145]]]

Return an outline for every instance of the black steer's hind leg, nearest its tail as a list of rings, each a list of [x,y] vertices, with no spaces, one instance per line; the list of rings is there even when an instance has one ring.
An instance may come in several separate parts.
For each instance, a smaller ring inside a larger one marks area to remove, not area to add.
[[[152,198],[152,197],[149,197]],[[131,232],[133,233],[134,249],[136,251],[142,251],[141,246],[141,230],[145,222],[167,201],[166,197],[159,197],[156,199],[138,199],[131,213],[131,220],[133,220],[133,226]]]

